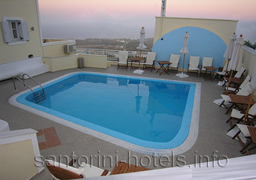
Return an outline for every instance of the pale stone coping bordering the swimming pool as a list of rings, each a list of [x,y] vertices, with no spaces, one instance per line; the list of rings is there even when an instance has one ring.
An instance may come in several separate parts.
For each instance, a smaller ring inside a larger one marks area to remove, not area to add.
[[[42,83],[42,86],[49,84],[49,83],[53,83],[56,80],[62,79],[63,77],[67,77],[69,75],[72,74],[78,74],[78,73],[89,73],[89,74],[103,74],[106,75],[106,73],[95,73],[95,72],[73,72],[73,73],[69,73],[69,74],[65,74],[62,75],[61,77],[57,77],[53,80],[47,81],[45,83]],[[120,76],[120,77],[136,77],[136,78],[143,78],[143,79],[147,79],[147,80],[166,80],[166,79],[159,79],[159,78],[153,78],[153,77],[138,77],[138,76],[128,76],[128,75],[120,75],[120,74],[109,74],[109,75],[114,75],[114,76]],[[199,121],[200,121],[200,94],[201,94],[201,83],[193,83],[193,82],[187,82],[187,81],[178,81],[178,80],[166,80],[166,81],[175,81],[175,82],[180,82],[180,83],[192,83],[196,85],[196,89],[195,89],[195,94],[194,94],[194,104],[193,104],[193,110],[192,110],[192,114],[191,114],[191,120],[190,120],[190,130],[189,133],[187,135],[187,138],[184,140],[184,142],[182,142],[181,145],[178,145],[175,148],[168,148],[168,149],[157,149],[157,148],[145,148],[143,146],[140,145],[135,145],[131,142],[126,142],[122,139],[118,139],[114,136],[109,136],[105,133],[101,133],[99,131],[96,130],[92,130],[88,127],[84,127],[81,126],[79,124],[75,124],[71,121],[67,121],[65,119],[56,117],[55,115],[50,115],[48,113],[44,113],[41,110],[36,110],[32,107],[28,107],[24,104],[20,104],[19,102],[17,102],[17,97],[29,92],[30,90],[27,89],[23,92],[19,92],[16,95],[11,96],[11,98],[9,98],[9,103],[15,107],[19,107],[23,110],[28,111],[29,113],[34,113],[36,115],[40,115],[41,117],[44,118],[48,118],[51,121],[55,121],[59,124],[71,127],[75,130],[79,130],[83,133],[87,133],[91,136],[95,136],[99,139],[108,141],[113,143],[114,145],[118,145],[120,147],[123,148],[128,148],[132,151],[136,151],[142,154],[151,154],[151,155],[155,155],[155,156],[171,156],[171,155],[178,155],[178,154],[182,154],[185,151],[188,151],[197,141],[197,137],[198,137],[198,132],[199,132]],[[37,89],[39,86],[35,86],[32,89]]]

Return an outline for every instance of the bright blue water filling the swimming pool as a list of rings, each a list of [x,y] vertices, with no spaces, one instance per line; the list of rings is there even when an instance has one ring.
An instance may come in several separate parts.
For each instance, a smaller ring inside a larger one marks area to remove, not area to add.
[[[148,148],[175,148],[187,138],[196,85],[105,74],[70,74],[31,92],[21,104]]]

